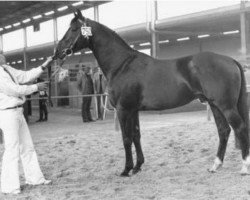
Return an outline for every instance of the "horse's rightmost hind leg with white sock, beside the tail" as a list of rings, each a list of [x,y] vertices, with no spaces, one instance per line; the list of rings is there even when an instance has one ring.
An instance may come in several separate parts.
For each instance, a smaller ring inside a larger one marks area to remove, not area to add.
[[[237,109],[227,111],[225,116],[230,125],[233,127],[235,135],[240,142],[241,154],[243,159],[243,166],[240,173],[243,175],[249,174],[248,167],[250,166],[250,157],[247,127]]]

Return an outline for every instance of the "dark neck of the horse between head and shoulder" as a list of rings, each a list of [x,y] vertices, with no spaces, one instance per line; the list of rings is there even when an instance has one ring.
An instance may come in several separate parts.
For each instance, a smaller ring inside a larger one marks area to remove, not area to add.
[[[89,48],[93,51],[107,79],[134,52],[119,36],[109,32],[93,35]]]

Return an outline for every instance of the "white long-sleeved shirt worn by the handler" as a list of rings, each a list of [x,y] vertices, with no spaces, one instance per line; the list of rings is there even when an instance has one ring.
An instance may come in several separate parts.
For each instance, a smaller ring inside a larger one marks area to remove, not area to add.
[[[11,74],[15,82],[4,68]],[[24,104],[25,96],[38,91],[38,88],[36,84],[22,84],[34,81],[42,73],[41,67],[22,71],[8,65],[0,65],[0,110]]]

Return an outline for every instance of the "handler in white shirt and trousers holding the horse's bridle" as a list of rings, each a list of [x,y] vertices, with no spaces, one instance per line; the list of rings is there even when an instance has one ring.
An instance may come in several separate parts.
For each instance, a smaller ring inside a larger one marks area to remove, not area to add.
[[[22,161],[26,184],[51,183],[51,180],[46,180],[41,172],[22,108],[25,95],[46,90],[47,82],[25,84],[37,79],[51,62],[52,58],[48,58],[37,68],[21,71],[6,65],[5,57],[0,54],[0,128],[3,131],[5,147],[1,172],[1,191],[3,193],[19,194],[21,192],[19,158]]]

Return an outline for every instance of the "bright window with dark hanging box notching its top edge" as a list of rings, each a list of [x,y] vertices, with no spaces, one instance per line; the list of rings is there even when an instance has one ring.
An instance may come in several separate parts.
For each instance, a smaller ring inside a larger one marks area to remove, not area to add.
[[[34,32],[33,26],[27,27],[27,46],[34,46],[54,41],[53,20],[40,24],[40,31]]]

